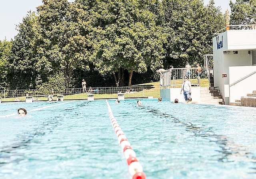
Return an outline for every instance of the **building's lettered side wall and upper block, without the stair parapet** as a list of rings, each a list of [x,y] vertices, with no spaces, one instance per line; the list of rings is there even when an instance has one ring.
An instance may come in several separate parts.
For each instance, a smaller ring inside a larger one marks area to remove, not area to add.
[[[230,91],[224,88],[225,85],[230,84],[229,67],[236,66],[239,71],[242,66],[252,66],[251,50],[256,48],[256,30],[227,30],[214,37],[212,43],[214,86],[219,87],[225,104],[229,104]],[[223,77],[223,74],[226,74],[226,77]]]

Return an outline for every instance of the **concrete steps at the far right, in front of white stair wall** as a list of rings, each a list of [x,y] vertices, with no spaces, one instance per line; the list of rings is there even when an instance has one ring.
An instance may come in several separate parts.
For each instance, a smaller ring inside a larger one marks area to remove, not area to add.
[[[241,97],[240,100],[236,100],[233,103],[229,103],[230,105],[238,105],[238,106],[247,106],[247,107],[256,107],[256,91],[252,91],[252,93],[247,94],[245,97]]]

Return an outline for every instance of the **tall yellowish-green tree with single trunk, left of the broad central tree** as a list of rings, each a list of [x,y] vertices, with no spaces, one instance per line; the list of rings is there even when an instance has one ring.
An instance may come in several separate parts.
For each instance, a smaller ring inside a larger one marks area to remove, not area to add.
[[[38,7],[40,56],[50,62],[50,72],[63,74],[65,87],[76,68],[87,69],[90,52],[90,16],[79,3],[67,0],[42,0]]]

